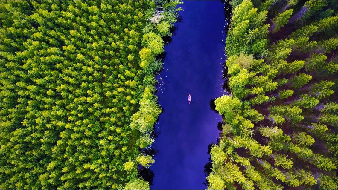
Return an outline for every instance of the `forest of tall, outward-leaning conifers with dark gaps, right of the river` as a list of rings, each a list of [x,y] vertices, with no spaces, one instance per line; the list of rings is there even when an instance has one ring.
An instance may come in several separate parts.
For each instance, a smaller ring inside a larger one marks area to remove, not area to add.
[[[337,189],[337,3],[230,3],[207,189]]]

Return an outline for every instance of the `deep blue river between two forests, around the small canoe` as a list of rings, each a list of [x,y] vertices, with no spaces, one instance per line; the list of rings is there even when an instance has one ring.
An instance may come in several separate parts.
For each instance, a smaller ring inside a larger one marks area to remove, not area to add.
[[[208,145],[216,142],[222,121],[209,102],[224,94],[224,4],[183,2],[183,22],[175,24],[176,34],[165,46],[164,83],[157,94],[164,112],[155,126],[159,135],[153,147],[159,152],[150,167],[151,189],[205,189]]]

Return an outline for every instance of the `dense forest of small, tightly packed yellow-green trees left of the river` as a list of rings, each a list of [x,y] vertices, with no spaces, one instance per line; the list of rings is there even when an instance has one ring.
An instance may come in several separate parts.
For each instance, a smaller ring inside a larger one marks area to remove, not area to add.
[[[1,1],[1,189],[150,189],[180,1]]]

